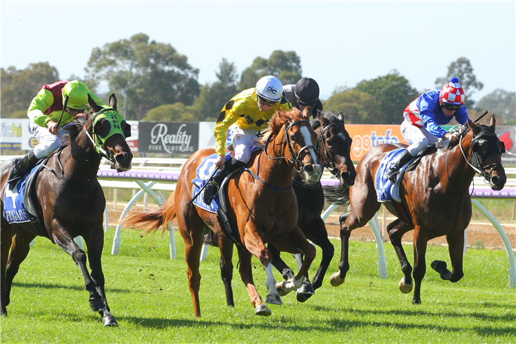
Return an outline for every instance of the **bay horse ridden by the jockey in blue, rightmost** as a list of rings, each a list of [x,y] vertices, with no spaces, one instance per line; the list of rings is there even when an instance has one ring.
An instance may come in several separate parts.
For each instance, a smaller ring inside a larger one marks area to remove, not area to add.
[[[426,272],[426,243],[435,237],[446,235],[451,258],[452,271],[446,268],[446,262],[433,261],[431,267],[440,273],[440,277],[451,282],[459,281],[462,270],[462,251],[464,248],[464,230],[471,219],[471,198],[468,190],[475,173],[481,173],[489,182],[491,189],[500,190],[506,182],[506,175],[501,164],[503,144],[495,134],[495,117],[491,123],[475,125],[468,120],[466,131],[461,133],[458,144],[451,144],[448,149],[424,155],[414,171],[405,172],[400,186],[403,211],[397,210],[392,202],[384,205],[398,218],[387,226],[404,277],[400,281],[400,290],[408,293],[412,290],[412,267],[406,258],[401,240],[404,233],[414,229],[414,270],[415,289],[412,302],[421,303],[421,281]],[[331,277],[333,286],[344,282],[349,270],[348,244],[351,230],[362,227],[380,208],[375,192],[375,173],[382,158],[402,144],[380,144],[364,155],[358,163],[358,177],[355,185],[349,189],[351,211],[340,217],[340,239],[342,251],[339,272]],[[411,222],[411,223],[409,223]]]

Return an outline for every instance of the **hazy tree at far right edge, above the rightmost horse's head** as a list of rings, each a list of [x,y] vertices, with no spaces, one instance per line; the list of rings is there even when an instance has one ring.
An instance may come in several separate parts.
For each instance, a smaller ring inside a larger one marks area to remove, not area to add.
[[[478,110],[487,110],[499,115],[506,125],[516,125],[516,92],[495,89],[482,97],[477,104]]]

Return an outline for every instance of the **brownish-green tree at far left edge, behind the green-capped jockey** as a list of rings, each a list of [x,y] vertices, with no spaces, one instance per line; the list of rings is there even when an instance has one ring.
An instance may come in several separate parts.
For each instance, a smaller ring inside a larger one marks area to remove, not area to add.
[[[59,81],[59,73],[48,62],[40,62],[19,70],[12,66],[0,68],[0,79],[1,116],[23,118],[27,116],[32,98],[43,85]]]

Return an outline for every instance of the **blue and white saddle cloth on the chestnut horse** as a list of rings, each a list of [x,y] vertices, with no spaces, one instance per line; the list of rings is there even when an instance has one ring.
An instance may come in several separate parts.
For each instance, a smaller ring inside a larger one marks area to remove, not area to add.
[[[251,152],[253,151],[256,151],[257,149],[261,149],[261,147],[251,147]],[[233,158],[235,155],[234,152],[226,152],[226,161]],[[207,156],[203,162],[200,163],[200,165],[197,167],[197,172],[196,172],[196,178],[194,178],[192,180],[192,184],[194,184],[194,192],[193,192],[193,195],[197,195],[197,197],[195,198],[194,200],[194,204],[196,206],[198,206],[199,208],[205,210],[205,211],[209,211],[210,213],[217,213],[218,212],[218,207],[219,207],[219,204],[220,204],[220,201],[219,201],[219,198],[218,198],[218,195],[217,194],[215,197],[214,197],[214,200],[211,201],[211,204],[210,205],[207,205],[204,201],[203,201],[203,195],[204,195],[204,190],[202,193],[199,193],[199,190],[200,189],[203,189],[203,186],[205,186],[205,184],[208,182],[209,180],[209,177],[211,176],[211,174],[214,172],[215,170],[215,162],[217,161],[217,153],[213,153],[209,156]]]

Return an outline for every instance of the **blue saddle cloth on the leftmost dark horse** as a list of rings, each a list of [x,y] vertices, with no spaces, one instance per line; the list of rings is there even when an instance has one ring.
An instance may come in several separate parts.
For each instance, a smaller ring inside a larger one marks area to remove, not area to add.
[[[30,222],[29,215],[23,204],[23,196],[25,195],[27,180],[38,171],[39,167],[38,164],[30,172],[23,175],[14,186],[14,189],[9,190],[9,187],[6,185],[3,193],[3,217],[5,217],[8,223],[21,224],[23,222]]]

